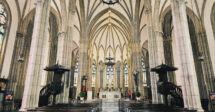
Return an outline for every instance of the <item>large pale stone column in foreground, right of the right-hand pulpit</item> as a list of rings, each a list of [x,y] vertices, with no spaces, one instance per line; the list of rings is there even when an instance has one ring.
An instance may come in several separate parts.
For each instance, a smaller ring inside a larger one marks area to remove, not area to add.
[[[179,62],[179,75],[184,99],[184,107],[201,111],[199,87],[187,22],[185,0],[172,0],[172,16]]]

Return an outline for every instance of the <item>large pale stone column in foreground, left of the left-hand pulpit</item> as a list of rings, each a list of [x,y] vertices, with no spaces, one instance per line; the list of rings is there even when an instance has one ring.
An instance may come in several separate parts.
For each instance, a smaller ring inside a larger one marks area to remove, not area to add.
[[[38,107],[41,72],[44,68],[45,40],[48,38],[51,0],[37,0],[25,88],[20,111]]]

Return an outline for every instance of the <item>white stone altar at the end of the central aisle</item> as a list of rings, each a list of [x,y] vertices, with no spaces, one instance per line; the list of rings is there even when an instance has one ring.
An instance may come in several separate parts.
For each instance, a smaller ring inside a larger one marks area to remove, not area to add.
[[[102,100],[118,101],[120,98],[121,98],[121,92],[118,92],[118,91],[99,92],[99,99],[102,99]]]

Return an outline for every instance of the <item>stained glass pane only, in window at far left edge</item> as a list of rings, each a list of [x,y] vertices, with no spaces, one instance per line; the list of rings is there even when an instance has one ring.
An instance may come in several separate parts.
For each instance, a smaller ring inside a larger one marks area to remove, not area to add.
[[[7,13],[4,5],[0,3],[0,52],[2,52],[2,44],[4,41],[5,27],[7,24]]]

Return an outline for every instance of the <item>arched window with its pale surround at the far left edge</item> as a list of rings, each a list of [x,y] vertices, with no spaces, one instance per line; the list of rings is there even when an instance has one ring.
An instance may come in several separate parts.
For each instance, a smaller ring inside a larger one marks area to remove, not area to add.
[[[9,29],[8,13],[5,9],[4,2],[0,2],[0,64],[2,65],[2,57],[5,51],[7,29]]]

